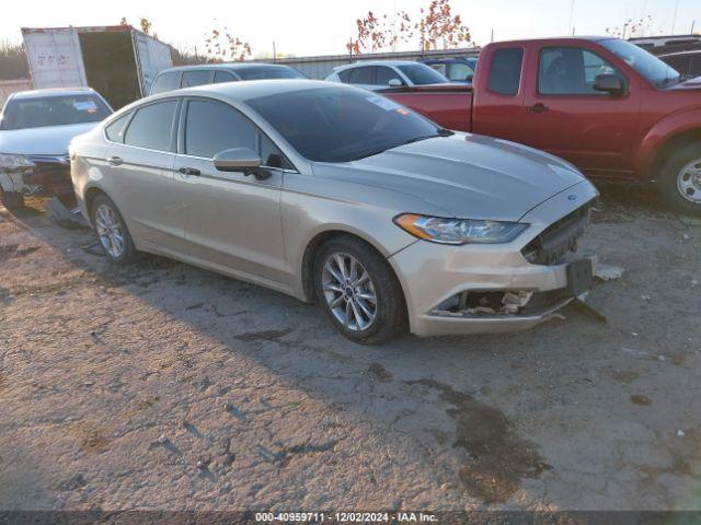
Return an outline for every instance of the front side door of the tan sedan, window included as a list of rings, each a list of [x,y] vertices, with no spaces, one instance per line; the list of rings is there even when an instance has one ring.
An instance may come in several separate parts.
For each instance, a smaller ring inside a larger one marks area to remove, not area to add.
[[[184,109],[175,177],[182,187],[188,254],[208,265],[287,283],[283,170],[272,167],[271,177],[258,180],[241,172],[220,172],[212,161],[231,148],[250,148],[263,155],[267,138],[221,102],[193,98]]]

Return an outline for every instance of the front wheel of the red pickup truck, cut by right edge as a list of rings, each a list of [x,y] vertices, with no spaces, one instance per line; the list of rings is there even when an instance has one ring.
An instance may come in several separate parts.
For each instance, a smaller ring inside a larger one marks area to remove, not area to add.
[[[663,167],[662,192],[677,211],[701,214],[701,144],[677,150]]]

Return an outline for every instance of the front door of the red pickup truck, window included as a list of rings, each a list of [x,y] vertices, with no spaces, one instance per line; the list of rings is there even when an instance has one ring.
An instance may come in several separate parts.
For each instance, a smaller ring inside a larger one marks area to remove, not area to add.
[[[553,46],[533,51],[524,100],[525,143],[566,159],[589,175],[632,176],[636,85],[596,49]],[[625,93],[594,90],[595,78],[605,73],[618,75]]]

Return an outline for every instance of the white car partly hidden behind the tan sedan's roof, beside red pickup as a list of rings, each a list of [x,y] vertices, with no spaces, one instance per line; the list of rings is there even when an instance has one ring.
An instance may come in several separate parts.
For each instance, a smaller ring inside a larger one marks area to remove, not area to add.
[[[340,66],[334,68],[326,80],[372,91],[449,82],[435,69],[410,60],[374,60]]]

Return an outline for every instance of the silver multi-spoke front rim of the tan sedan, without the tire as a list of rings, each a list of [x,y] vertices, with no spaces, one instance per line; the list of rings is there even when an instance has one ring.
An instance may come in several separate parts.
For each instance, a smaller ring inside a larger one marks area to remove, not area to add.
[[[363,331],[375,323],[375,284],[358,259],[343,253],[329,256],[324,262],[321,285],[329,310],[345,328]]]

